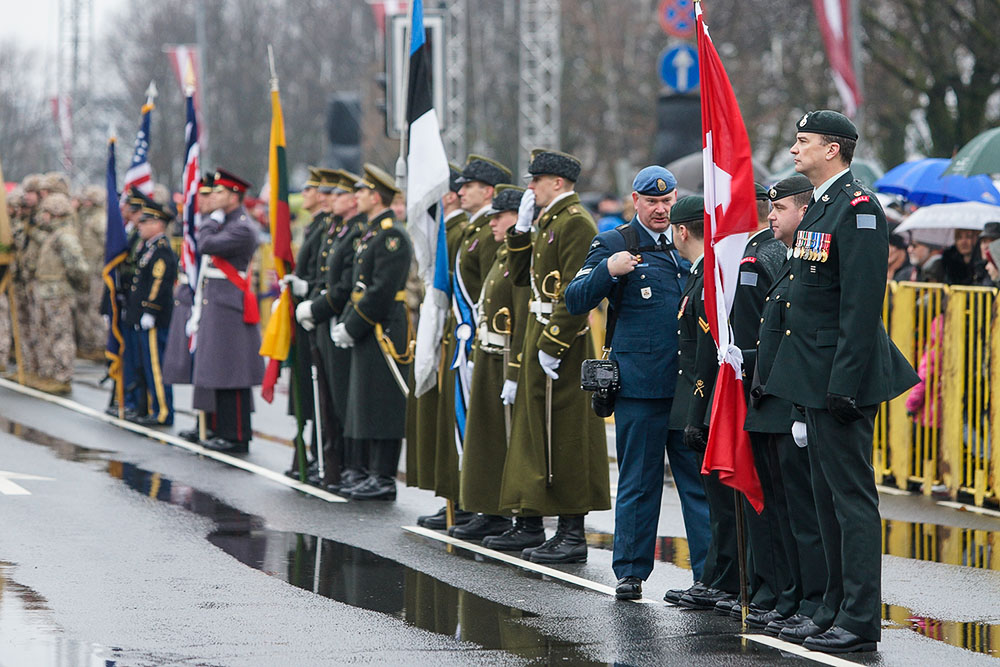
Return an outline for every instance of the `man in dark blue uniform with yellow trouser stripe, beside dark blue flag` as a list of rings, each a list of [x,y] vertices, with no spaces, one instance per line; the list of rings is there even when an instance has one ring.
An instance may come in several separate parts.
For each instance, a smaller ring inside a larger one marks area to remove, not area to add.
[[[125,322],[138,333],[143,377],[149,392],[149,412],[131,421],[144,426],[174,423],[173,388],[164,381],[162,367],[174,305],[171,287],[177,278],[177,256],[166,235],[172,219],[155,202],[142,208],[138,230],[143,245],[125,306]]]

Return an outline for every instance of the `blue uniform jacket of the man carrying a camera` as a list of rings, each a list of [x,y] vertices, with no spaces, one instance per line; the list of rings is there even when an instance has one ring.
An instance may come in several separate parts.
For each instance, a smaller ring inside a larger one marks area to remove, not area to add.
[[[639,245],[653,244],[633,218]],[[621,232],[612,229],[594,237],[583,268],[566,287],[566,308],[574,315],[589,312],[602,299],[614,300],[617,282],[608,273],[608,257],[626,250]],[[611,358],[621,370],[624,398],[671,398],[677,382],[677,310],[691,263],[676,250],[642,252],[626,280],[618,324],[611,341]]]

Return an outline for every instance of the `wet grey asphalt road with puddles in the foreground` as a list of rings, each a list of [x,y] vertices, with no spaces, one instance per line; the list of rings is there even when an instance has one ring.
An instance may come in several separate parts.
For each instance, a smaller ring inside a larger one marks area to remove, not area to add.
[[[82,370],[71,398],[102,407],[94,369]],[[440,506],[428,492],[330,503],[5,388],[0,417],[0,481],[29,492],[0,493],[3,666],[813,662],[741,640],[736,621],[712,613],[616,602],[449,553],[402,529]],[[290,435],[274,406],[259,406],[254,425]],[[291,457],[265,437],[251,449],[274,470]],[[883,641],[847,659],[997,664],[1000,519],[914,496],[884,495],[882,510],[898,554],[883,561]],[[560,569],[613,586],[598,546],[612,513],[587,527],[589,562]],[[659,534],[651,600],[691,580],[669,485]]]

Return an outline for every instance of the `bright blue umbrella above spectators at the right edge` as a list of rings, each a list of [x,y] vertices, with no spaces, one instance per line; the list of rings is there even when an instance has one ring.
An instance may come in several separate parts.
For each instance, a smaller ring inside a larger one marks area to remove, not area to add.
[[[1000,204],[1000,192],[989,176],[952,174],[942,177],[949,162],[943,158],[904,162],[875,181],[875,188],[879,192],[902,195],[919,206],[959,201]]]

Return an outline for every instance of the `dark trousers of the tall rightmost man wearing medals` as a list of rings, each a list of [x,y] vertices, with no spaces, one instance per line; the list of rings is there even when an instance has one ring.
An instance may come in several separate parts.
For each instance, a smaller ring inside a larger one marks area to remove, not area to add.
[[[872,468],[877,406],[841,424],[806,408],[809,463],[823,553],[829,570],[820,627],[837,625],[869,641],[881,636],[882,522]]]

